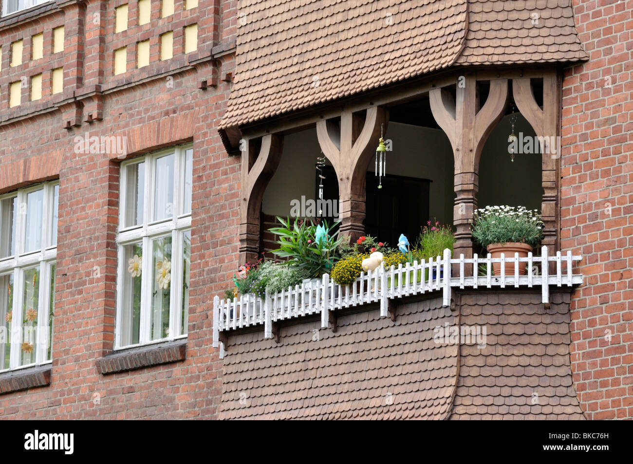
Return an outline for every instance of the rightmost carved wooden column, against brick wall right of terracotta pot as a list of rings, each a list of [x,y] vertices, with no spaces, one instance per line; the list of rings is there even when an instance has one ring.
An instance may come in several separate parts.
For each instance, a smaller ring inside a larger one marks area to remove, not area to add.
[[[542,157],[542,187],[543,197],[541,203],[541,214],[545,228],[543,231],[542,244],[550,247],[550,251],[558,250],[559,230],[559,202],[558,202],[558,179],[560,179],[560,85],[555,71],[546,73],[543,76],[543,108],[536,103],[534,92],[530,85],[530,78],[514,78],[512,80],[512,93],[518,110],[532,125],[532,129],[539,137],[539,142],[545,137],[550,142],[554,142],[553,147],[544,150],[541,146]]]

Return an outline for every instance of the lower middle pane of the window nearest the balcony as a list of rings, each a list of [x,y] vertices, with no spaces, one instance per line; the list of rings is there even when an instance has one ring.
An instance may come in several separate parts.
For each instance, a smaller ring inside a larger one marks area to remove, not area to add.
[[[169,335],[169,298],[172,292],[172,237],[156,239],[152,243],[153,272],[150,339]]]

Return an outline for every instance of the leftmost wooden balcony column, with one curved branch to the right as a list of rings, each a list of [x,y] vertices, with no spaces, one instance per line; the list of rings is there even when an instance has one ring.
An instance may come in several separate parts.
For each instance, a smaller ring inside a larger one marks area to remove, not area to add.
[[[265,135],[258,150],[256,144],[245,139],[242,151],[242,180],[239,228],[239,261],[256,260],[260,251],[261,199],[281,159],[283,138]]]

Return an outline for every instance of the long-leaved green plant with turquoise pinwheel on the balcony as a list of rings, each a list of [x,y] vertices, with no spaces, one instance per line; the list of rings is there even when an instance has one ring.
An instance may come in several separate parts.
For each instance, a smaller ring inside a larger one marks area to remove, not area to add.
[[[332,270],[338,260],[337,249],[343,241],[338,230],[331,233],[327,222],[318,225],[313,222],[294,220],[291,225],[277,216],[282,227],[269,229],[279,236],[279,248],[272,251],[275,256],[288,258],[287,264],[304,270],[309,277],[320,277]]]

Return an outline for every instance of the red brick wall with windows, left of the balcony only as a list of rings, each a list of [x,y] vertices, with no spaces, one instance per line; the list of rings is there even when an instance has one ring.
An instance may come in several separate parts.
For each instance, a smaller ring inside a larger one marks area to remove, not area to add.
[[[132,27],[135,1],[130,0],[129,30],[119,33],[115,42],[105,40],[103,34],[111,34],[113,28],[112,10],[123,3],[89,4],[87,18],[98,11],[107,14],[101,16],[101,28],[92,20],[86,21],[85,34],[80,34],[84,27],[81,10],[73,4],[64,6],[63,11],[55,8],[43,18],[13,24],[0,22],[0,192],[38,180],[60,179],[51,384],[1,395],[0,418],[216,415],[221,385],[218,354],[211,348],[211,302],[215,294],[227,287],[237,268],[240,170],[239,158],[227,156],[216,129],[230,84],[220,80],[218,87],[200,90],[199,82],[212,76],[213,62],[191,62],[208,56],[211,45],[220,38],[221,2],[199,2],[198,53],[182,54],[182,31],[175,32],[173,60],[152,61],[146,68],[135,70],[134,56],[130,57],[128,49],[128,72],[113,77],[111,60],[104,63],[95,56],[108,56],[112,47],[135,44],[153,34],[152,27]],[[235,2],[225,3],[229,9],[235,8]],[[156,22],[165,28],[168,21],[160,20],[154,11],[160,2],[152,4],[150,25]],[[173,27],[180,28],[185,24],[183,18],[192,16],[192,11],[182,12],[182,0],[176,0],[175,9],[177,24]],[[45,58],[35,64],[41,68],[49,66],[49,20],[65,22],[63,96],[49,96],[45,78],[41,101],[28,102],[23,97],[19,107],[9,109],[8,83],[19,80],[20,73],[34,65],[27,62],[25,51],[25,65],[9,68],[9,42],[23,38],[26,49],[31,35],[43,28]],[[223,39],[232,37],[226,35]],[[74,50],[85,50],[85,59],[71,52]],[[151,54],[152,60],[158,60],[154,51]],[[219,71],[232,70],[233,61],[233,54],[222,56]],[[80,87],[77,84],[82,80],[84,85]],[[103,92],[95,96],[99,89]],[[80,96],[80,103],[72,99],[73,92]],[[88,122],[89,116],[97,117]],[[69,121],[70,127],[65,129]],[[73,139],[85,132],[127,135],[129,156],[193,142],[192,265],[184,361],[111,375],[97,372],[96,360],[111,353],[114,341],[120,160],[108,154],[75,154]],[[100,404],[94,404],[95,393],[99,394]]]

